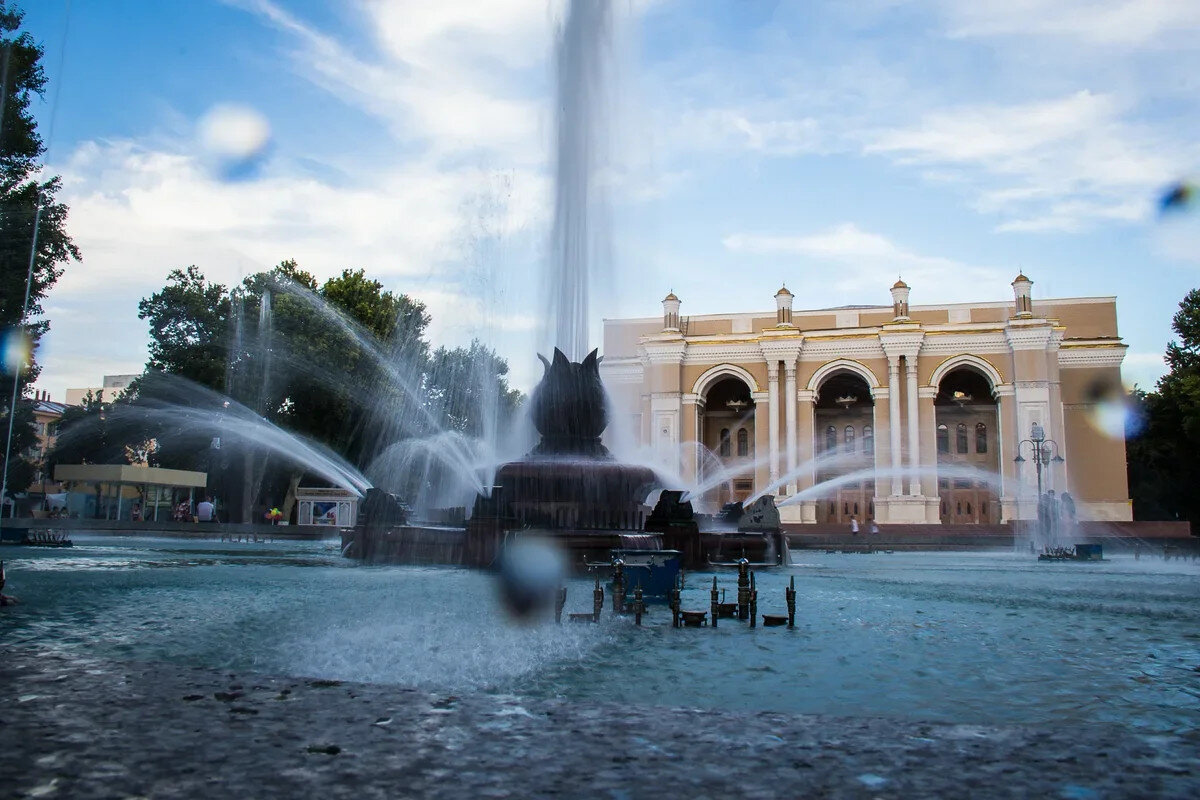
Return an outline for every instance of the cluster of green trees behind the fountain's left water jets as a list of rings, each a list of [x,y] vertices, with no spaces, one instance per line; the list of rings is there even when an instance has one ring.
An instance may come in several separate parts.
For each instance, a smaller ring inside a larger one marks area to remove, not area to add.
[[[499,415],[520,404],[503,359],[479,342],[431,354],[425,305],[364,270],[318,283],[287,260],[227,289],[192,266],[170,272],[139,313],[150,321],[151,345],[134,393],[148,404],[179,399],[157,396],[176,390],[150,377],[187,378],[359,467],[408,437],[494,431]],[[154,425],[148,420],[146,429]],[[248,497],[282,497],[299,477],[280,455],[232,456],[239,444],[232,440],[220,453],[204,452],[194,439],[160,429],[157,463],[238,473],[234,482],[251,487],[242,495],[247,512]]]

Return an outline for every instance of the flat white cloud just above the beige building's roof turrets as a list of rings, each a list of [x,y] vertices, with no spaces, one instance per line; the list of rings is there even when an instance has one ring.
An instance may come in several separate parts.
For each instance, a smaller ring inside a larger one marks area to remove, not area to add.
[[[821,267],[821,290],[852,302],[880,296],[882,288],[890,285],[896,276],[904,276],[913,287],[914,305],[1003,296],[1008,273],[941,255],[914,253],[850,222],[814,234],[732,234],[722,243],[734,253],[792,257],[800,265]]]

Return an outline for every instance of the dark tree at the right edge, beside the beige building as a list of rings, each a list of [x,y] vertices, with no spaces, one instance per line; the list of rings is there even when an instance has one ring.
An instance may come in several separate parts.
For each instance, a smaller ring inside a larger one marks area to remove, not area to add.
[[[1180,302],[1171,320],[1178,336],[1153,392],[1135,390],[1127,433],[1129,494],[1139,519],[1200,524],[1200,289]]]

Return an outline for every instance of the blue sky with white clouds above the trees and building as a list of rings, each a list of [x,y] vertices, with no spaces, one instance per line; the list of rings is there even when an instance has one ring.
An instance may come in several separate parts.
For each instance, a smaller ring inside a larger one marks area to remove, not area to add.
[[[424,300],[528,387],[548,241],[547,0],[37,0],[37,107],[84,260],[46,302],[56,398],[138,372],[172,267],[286,258]],[[1162,372],[1200,283],[1200,4],[616,0],[598,317],[1117,295]],[[247,144],[248,143],[248,144]],[[260,149],[251,144],[262,144]],[[246,146],[257,156],[232,169]]]

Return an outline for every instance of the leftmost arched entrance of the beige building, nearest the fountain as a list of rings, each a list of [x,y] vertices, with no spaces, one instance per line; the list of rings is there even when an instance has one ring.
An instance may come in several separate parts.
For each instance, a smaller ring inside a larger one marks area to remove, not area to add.
[[[738,467],[746,468],[706,497],[716,509],[754,494],[754,417],[750,386],[740,378],[721,378],[704,392],[701,443],[716,456],[715,463],[720,464],[720,469],[732,468],[736,471]]]

